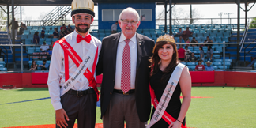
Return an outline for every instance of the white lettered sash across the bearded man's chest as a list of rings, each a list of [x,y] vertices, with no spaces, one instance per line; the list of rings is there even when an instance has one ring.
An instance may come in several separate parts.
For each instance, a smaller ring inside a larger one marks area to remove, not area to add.
[[[85,50],[83,50],[83,62],[81,62],[81,64],[78,66],[77,70],[72,74],[72,76],[62,86],[61,91],[60,91],[61,96],[64,95],[66,92],[68,92],[70,90],[70,88],[72,88],[77,83],[77,81],[79,81],[79,79],[82,76],[84,76],[84,73],[85,73],[86,69],[88,68],[88,66],[92,66],[97,47],[93,43],[89,43],[89,44],[90,44],[90,48],[88,49],[88,53],[86,55],[85,55]],[[85,46],[85,44],[83,43],[83,48],[84,48],[84,46]],[[73,57],[76,58],[74,55],[73,55]]]

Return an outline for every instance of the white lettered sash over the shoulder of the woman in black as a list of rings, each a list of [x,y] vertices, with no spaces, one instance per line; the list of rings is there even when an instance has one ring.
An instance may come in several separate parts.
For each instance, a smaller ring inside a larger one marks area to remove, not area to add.
[[[173,92],[175,91],[175,88],[179,82],[179,78],[181,73],[183,72],[183,68],[185,65],[182,63],[179,63],[178,66],[176,66],[175,70],[171,74],[171,77],[168,81],[168,85],[166,85],[164,89],[164,93],[161,96],[161,99],[159,101],[159,104],[157,104],[156,111],[152,115],[152,119],[149,122],[149,125],[146,126],[147,128],[150,128],[152,125],[154,125],[156,122],[158,122],[162,116],[164,115],[164,111],[168,107],[168,104],[171,100],[171,96]]]

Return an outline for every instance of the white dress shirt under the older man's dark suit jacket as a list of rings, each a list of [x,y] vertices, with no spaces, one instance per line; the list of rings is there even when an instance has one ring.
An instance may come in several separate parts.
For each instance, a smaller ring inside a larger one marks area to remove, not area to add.
[[[115,86],[117,90],[121,90],[121,76],[122,76],[122,52],[126,45],[126,36],[121,32],[119,44],[116,53],[116,67],[115,67]],[[130,39],[130,89],[135,89],[135,77],[137,66],[137,38],[136,34]]]

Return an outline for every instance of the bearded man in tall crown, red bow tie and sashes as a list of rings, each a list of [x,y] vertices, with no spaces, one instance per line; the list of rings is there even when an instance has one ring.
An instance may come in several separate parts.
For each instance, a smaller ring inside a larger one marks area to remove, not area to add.
[[[94,128],[96,122],[96,63],[100,40],[88,33],[95,13],[92,0],[73,0],[75,31],[55,42],[48,87],[55,108],[56,127]]]

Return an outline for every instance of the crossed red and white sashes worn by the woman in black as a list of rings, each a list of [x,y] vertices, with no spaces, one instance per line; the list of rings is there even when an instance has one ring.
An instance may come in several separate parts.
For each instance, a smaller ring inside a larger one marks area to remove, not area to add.
[[[172,96],[173,92],[175,91],[175,88],[179,82],[179,78],[180,78],[181,73],[183,72],[184,67],[185,67],[185,65],[183,65],[181,63],[179,63],[178,66],[176,66],[175,70],[173,71],[173,73],[168,81],[168,85],[164,89],[164,93],[161,96],[160,102],[158,102],[158,100],[156,99],[155,92],[151,88],[151,85],[149,85],[151,100],[152,100],[152,103],[153,103],[156,111],[152,115],[152,119],[149,122],[149,125],[146,126],[147,128],[150,128],[152,125],[154,125],[156,122],[158,122],[161,118],[164,119],[164,121],[167,122],[169,125],[171,124],[171,122],[176,121],[176,119],[173,118],[170,114],[168,114],[165,111],[165,109],[168,107],[169,101],[171,100],[171,96]],[[185,124],[185,126],[182,124],[181,127],[186,128],[186,124]]]

